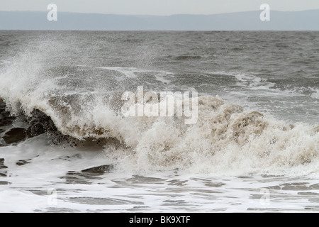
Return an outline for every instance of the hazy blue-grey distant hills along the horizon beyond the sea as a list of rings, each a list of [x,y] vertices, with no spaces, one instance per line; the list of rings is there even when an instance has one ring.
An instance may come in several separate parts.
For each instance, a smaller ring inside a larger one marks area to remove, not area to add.
[[[57,21],[47,21],[45,11],[0,11],[0,30],[319,31],[319,9],[271,11],[270,21],[260,21],[261,12],[172,16],[58,12]]]

